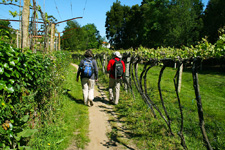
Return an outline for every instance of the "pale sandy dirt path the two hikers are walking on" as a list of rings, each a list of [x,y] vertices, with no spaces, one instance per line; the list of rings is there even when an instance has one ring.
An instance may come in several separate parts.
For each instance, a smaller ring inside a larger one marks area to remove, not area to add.
[[[107,137],[107,133],[112,130],[109,116],[106,113],[112,111],[112,106],[108,105],[107,102],[107,99],[95,88],[94,106],[89,108],[89,138],[91,142],[86,150],[116,148],[116,145]]]

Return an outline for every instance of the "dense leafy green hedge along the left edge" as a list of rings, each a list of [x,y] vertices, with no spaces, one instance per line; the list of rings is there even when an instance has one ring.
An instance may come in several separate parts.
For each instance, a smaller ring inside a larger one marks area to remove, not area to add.
[[[28,118],[37,105],[45,103],[35,96],[44,97],[44,91],[49,90],[52,63],[48,57],[21,53],[2,41],[0,47],[0,145],[15,148],[34,133]]]

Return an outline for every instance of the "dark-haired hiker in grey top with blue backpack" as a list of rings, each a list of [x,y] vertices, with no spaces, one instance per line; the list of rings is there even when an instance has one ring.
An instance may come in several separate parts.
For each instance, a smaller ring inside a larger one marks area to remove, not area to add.
[[[94,99],[94,85],[98,81],[98,67],[95,59],[93,58],[91,50],[87,50],[84,54],[84,59],[80,61],[80,65],[77,71],[77,82],[79,76],[81,78],[81,84],[83,89],[84,104],[87,106],[93,106]],[[90,105],[88,105],[90,102]]]

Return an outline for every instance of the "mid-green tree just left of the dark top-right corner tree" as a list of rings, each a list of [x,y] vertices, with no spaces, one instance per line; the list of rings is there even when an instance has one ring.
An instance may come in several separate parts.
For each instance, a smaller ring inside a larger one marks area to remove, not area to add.
[[[200,40],[200,30],[203,27],[200,18],[203,10],[201,0],[172,0],[166,15],[168,23],[166,30],[166,45],[181,47],[190,46]]]

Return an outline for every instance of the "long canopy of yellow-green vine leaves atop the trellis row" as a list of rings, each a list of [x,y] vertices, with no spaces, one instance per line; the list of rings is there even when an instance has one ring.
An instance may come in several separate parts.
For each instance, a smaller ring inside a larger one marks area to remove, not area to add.
[[[93,50],[94,53],[107,53],[111,55],[113,53],[112,50],[108,49],[97,49]],[[211,44],[207,41],[207,39],[202,39],[197,45],[182,48],[174,48],[174,47],[158,47],[158,48],[146,48],[140,46],[136,51],[133,49],[120,50],[121,53],[132,53],[135,55],[139,55],[143,57],[143,59],[148,60],[151,59],[191,59],[195,57],[200,57],[203,60],[208,58],[223,58],[225,56],[225,34],[222,34],[218,41],[215,44]],[[76,54],[82,55],[83,52],[77,52]]]

